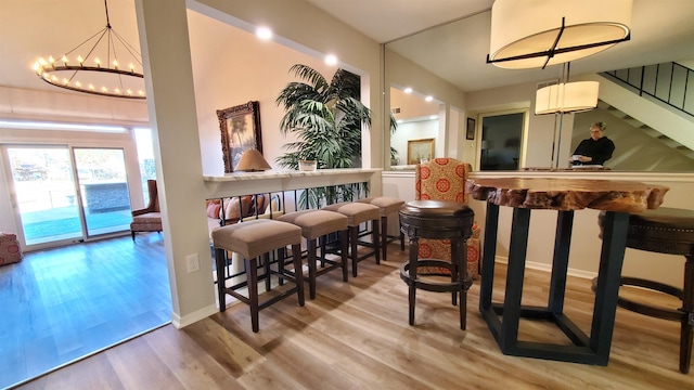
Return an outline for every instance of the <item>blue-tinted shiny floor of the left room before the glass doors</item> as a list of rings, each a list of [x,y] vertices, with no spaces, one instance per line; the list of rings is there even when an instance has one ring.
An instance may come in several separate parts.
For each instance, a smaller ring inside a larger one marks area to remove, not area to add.
[[[170,320],[160,234],[28,252],[0,268],[0,389]]]

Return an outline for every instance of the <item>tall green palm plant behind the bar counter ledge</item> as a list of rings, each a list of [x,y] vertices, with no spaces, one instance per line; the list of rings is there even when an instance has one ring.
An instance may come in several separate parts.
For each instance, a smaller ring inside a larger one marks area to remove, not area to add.
[[[359,101],[360,78],[337,69],[329,83],[316,69],[296,64],[290,73],[304,81],[290,82],[275,103],[285,114],[280,121],[284,135],[295,134],[297,141],[283,145],[286,153],[275,161],[291,169],[299,160],[316,159],[318,168],[351,168],[361,154],[362,125],[371,126],[371,110]],[[334,203],[351,196],[350,187],[318,190],[308,203],[322,199]],[[306,202],[306,199],[305,199]]]

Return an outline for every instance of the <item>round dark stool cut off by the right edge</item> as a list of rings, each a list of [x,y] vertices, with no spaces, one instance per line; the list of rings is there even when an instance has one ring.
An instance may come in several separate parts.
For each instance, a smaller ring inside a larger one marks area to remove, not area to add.
[[[599,216],[602,236],[605,212]],[[694,327],[694,211],[660,207],[629,216],[627,247],[659,253],[685,257],[684,288],[639,277],[621,277],[620,286],[637,286],[679,298],[682,308],[677,310],[655,308],[619,297],[620,308],[663,320],[679,321],[680,372],[689,374],[692,361],[692,330]],[[595,281],[593,280],[593,291]]]

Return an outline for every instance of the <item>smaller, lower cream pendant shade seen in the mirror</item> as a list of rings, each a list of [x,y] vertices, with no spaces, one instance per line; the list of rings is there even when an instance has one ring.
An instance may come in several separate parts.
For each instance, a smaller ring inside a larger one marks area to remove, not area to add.
[[[541,88],[535,98],[535,114],[576,113],[597,106],[597,81],[575,81]]]

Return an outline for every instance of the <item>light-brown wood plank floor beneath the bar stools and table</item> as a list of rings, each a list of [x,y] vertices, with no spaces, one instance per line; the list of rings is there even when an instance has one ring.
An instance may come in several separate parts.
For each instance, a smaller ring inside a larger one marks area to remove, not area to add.
[[[679,324],[619,309],[606,367],[505,356],[468,294],[467,330],[448,295],[420,291],[408,325],[406,261],[397,245],[387,262],[360,263],[343,283],[319,277],[304,308],[285,299],[260,312],[250,330],[236,304],[182,330],[167,325],[22,386],[22,389],[694,389],[678,370]],[[498,266],[499,271],[505,271]],[[524,304],[547,300],[545,272],[527,270]],[[496,299],[503,296],[496,277]],[[646,296],[639,294],[640,296]],[[647,295],[654,301],[666,300]],[[569,277],[566,313],[590,329],[590,281]],[[560,340],[551,327],[523,322],[523,337]]]

